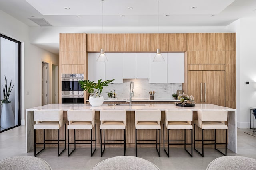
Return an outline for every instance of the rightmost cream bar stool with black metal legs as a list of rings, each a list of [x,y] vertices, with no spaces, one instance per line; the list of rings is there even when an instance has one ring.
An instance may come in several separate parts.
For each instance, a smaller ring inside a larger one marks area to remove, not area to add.
[[[213,145],[214,149],[227,156],[227,130],[228,126],[225,125],[225,121],[228,119],[228,111],[226,110],[198,110],[197,120],[194,121],[194,150],[204,157],[204,145]],[[202,129],[202,140],[195,140],[195,125]],[[204,140],[204,130],[214,129],[214,140]],[[225,129],[226,142],[216,143],[216,129]],[[202,153],[196,149],[195,141],[202,141]],[[214,143],[204,143],[204,141],[214,141]],[[216,145],[225,144],[225,153],[216,148]]]

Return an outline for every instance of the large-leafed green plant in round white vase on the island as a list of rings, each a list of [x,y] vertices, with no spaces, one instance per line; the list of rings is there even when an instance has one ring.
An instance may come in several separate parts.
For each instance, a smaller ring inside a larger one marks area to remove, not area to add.
[[[114,80],[115,79],[102,82],[100,79],[97,83],[90,80],[80,80],[79,84],[84,91],[87,91],[90,94],[89,103],[92,106],[101,106],[104,102],[104,98],[101,94],[103,87],[108,86],[108,84],[110,84]]]

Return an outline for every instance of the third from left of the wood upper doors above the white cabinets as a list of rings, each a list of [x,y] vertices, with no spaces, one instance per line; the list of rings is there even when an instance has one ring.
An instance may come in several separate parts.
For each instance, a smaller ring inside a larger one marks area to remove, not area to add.
[[[135,52],[137,46],[137,34],[122,34],[122,51]]]

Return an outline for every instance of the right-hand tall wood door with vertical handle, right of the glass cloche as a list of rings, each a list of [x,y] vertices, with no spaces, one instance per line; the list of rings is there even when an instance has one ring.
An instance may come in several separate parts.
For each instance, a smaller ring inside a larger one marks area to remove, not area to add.
[[[204,102],[225,106],[225,71],[203,71]]]

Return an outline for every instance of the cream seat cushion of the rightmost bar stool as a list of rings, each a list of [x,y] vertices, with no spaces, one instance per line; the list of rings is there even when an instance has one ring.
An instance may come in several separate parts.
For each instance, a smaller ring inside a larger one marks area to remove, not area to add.
[[[221,121],[204,121],[199,124],[198,120],[195,120],[194,124],[196,124],[201,129],[228,129],[228,126]]]

